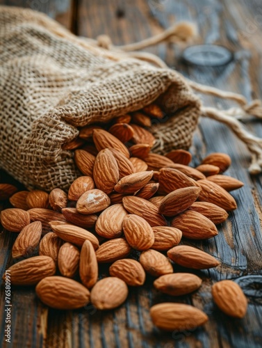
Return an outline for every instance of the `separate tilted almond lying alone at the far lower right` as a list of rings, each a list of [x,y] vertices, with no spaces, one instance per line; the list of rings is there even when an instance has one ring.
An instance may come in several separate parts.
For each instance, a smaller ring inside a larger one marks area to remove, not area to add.
[[[222,280],[212,287],[213,299],[225,314],[243,318],[247,312],[247,298],[240,286],[232,280]]]

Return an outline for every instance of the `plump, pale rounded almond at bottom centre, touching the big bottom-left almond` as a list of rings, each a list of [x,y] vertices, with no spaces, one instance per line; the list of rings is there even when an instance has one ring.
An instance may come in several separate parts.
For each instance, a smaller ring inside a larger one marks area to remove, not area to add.
[[[101,279],[91,291],[91,302],[99,310],[117,308],[129,294],[128,287],[123,280],[116,277]]]

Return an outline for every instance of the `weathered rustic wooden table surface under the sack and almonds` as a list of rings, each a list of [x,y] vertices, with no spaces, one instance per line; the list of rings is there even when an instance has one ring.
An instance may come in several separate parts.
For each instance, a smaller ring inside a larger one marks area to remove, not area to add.
[[[200,68],[181,61],[183,49],[161,44],[148,49],[168,65],[194,81],[243,93],[247,100],[262,97],[262,3],[259,0],[0,0],[0,4],[31,7],[54,17],[74,33],[90,38],[106,33],[115,45],[136,42],[160,33],[174,20],[189,20],[198,26],[197,43],[220,44],[234,52],[234,60],[223,67]],[[204,104],[223,107],[231,103],[204,97]],[[261,122],[246,127],[262,137]],[[126,303],[101,313],[92,306],[81,310],[50,310],[35,297],[33,288],[13,287],[12,343],[4,347],[262,347],[262,176],[250,177],[249,155],[243,143],[226,126],[202,119],[190,149],[193,164],[210,152],[231,156],[229,175],[245,182],[233,192],[238,209],[219,226],[219,235],[192,242],[221,261],[222,266],[197,271],[203,279],[199,291],[174,299],[152,290],[152,280],[130,291]],[[1,182],[5,175],[1,174]],[[1,274],[10,264],[15,234],[1,233]],[[106,271],[106,269],[105,269]],[[211,299],[211,285],[236,279],[249,300],[244,319],[223,315]],[[0,340],[4,335],[3,285],[1,287]],[[152,326],[149,308],[161,301],[189,303],[204,310],[209,321],[188,331],[160,333]]]

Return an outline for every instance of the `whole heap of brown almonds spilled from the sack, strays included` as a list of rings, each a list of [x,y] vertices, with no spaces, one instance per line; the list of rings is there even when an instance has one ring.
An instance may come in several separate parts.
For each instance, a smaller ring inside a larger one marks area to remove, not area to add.
[[[173,263],[188,271],[220,262],[198,248],[179,245],[181,239],[218,235],[215,225],[236,209],[229,191],[243,183],[222,175],[231,164],[228,155],[213,153],[192,168],[186,150],[165,156],[150,152],[155,139],[145,127],[162,117],[152,104],[103,129],[80,129],[79,138],[64,145],[74,150],[83,174],[68,193],[59,188],[16,192],[13,185],[0,184],[1,199],[13,205],[2,210],[1,224],[19,233],[9,269],[13,285],[36,285],[43,303],[68,310],[89,302],[99,310],[116,308],[126,300],[128,287],[145,283],[146,274],[156,278],[158,291],[172,296],[202,285],[195,274],[174,273]],[[129,258],[133,249],[139,261]],[[110,276],[98,280],[103,263],[110,263]],[[212,294],[227,315],[245,315],[247,299],[233,281],[215,283]],[[182,303],[156,304],[150,314],[167,331],[208,320],[202,310]]]

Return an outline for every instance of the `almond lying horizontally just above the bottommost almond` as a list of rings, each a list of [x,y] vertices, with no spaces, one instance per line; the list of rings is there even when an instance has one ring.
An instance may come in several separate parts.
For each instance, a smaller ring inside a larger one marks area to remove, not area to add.
[[[157,290],[171,296],[190,294],[201,284],[202,279],[190,273],[165,274],[154,281],[154,287]]]

